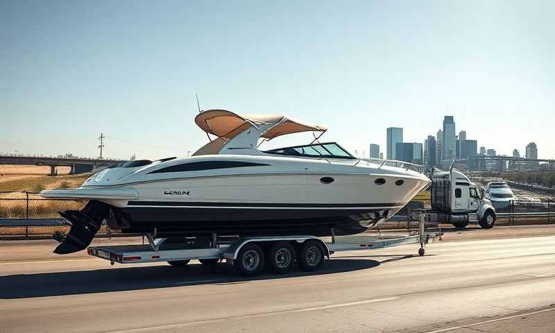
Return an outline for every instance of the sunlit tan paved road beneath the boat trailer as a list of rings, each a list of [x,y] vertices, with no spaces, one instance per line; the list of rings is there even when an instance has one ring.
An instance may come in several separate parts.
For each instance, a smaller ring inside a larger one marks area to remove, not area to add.
[[[0,242],[0,332],[555,332],[555,225],[448,232],[424,257],[414,244],[336,253],[318,273],[255,279],[53,246]]]

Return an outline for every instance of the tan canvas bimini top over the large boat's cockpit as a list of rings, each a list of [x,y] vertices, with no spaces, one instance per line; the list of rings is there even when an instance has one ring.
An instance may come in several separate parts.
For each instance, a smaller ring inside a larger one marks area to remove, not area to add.
[[[312,125],[284,114],[237,114],[227,110],[207,110],[195,117],[195,122],[206,133],[232,139],[250,126],[272,125],[260,137],[273,139],[280,135],[300,132],[325,132],[326,126]]]

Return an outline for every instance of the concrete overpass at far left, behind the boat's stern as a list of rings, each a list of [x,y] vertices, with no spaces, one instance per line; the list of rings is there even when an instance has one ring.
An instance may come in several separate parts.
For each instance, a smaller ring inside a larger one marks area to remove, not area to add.
[[[121,163],[121,160],[94,160],[72,157],[37,157],[37,156],[0,156],[0,164],[46,165],[50,167],[50,175],[56,175],[56,167],[70,167],[72,175],[90,172],[99,167],[108,167]]]

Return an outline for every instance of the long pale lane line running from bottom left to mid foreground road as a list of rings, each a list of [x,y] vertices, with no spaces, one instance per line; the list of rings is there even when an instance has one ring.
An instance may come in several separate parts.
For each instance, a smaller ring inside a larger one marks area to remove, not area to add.
[[[205,324],[205,323],[215,323],[219,321],[228,321],[230,319],[238,319],[238,318],[257,318],[262,316],[274,316],[277,314],[296,314],[299,312],[307,312],[307,311],[318,311],[318,310],[326,310],[326,309],[336,309],[338,307],[352,307],[354,305],[364,305],[376,302],[385,302],[387,300],[398,300],[400,297],[388,297],[388,298],[374,298],[372,300],[359,300],[357,302],[346,302],[346,303],[339,303],[339,304],[332,304],[332,305],[323,305],[321,307],[302,307],[300,309],[289,309],[289,310],[278,310],[272,312],[261,312],[258,314],[244,314],[239,316],[229,316],[229,317],[222,317],[222,318],[213,318],[213,319],[206,319],[203,321],[189,321],[187,323],[173,323],[167,325],[153,325],[153,326],[146,326],[146,327],[138,327],[138,328],[128,328],[124,330],[115,330],[109,331],[105,333],[140,333],[140,332],[152,332],[155,330],[169,330],[169,329],[179,329],[181,327],[186,327],[190,325],[198,325],[198,324]]]

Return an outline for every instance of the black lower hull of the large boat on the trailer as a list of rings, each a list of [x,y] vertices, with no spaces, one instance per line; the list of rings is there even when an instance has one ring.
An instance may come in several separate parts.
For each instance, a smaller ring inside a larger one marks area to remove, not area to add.
[[[365,209],[271,209],[271,208],[172,208],[126,207],[129,224],[123,232],[153,232],[160,237],[198,235],[294,235],[329,236],[358,234],[393,214],[387,208]]]

